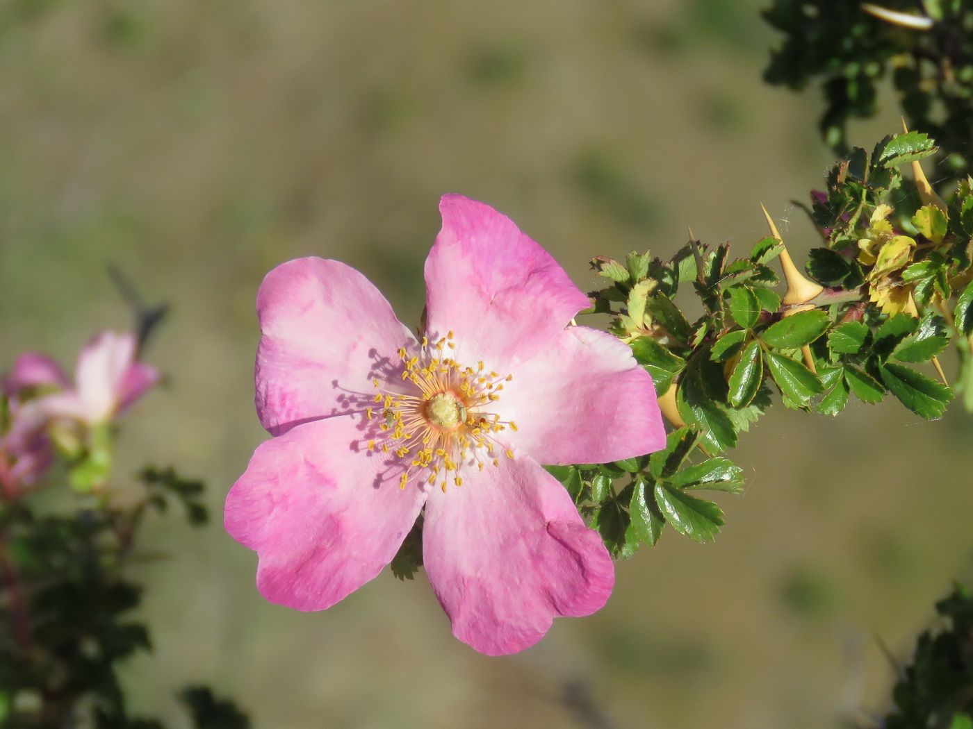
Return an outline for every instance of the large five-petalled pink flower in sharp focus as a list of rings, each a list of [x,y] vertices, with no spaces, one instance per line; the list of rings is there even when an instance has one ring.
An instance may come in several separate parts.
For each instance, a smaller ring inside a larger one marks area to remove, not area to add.
[[[590,301],[508,218],[459,195],[425,264],[426,336],[336,260],[291,260],[257,295],[261,444],[227,497],[272,603],[330,608],[373,579],[425,507],[423,561],[453,635],[491,655],[588,615],[614,569],[541,464],[663,447],[648,373],[568,327]]]

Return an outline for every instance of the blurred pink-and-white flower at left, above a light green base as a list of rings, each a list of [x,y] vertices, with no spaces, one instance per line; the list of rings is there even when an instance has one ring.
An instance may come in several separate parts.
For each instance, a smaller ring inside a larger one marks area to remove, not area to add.
[[[39,400],[52,418],[71,418],[89,425],[121,415],[159,382],[159,371],[135,361],[135,335],[102,331],[78,356],[74,387]]]

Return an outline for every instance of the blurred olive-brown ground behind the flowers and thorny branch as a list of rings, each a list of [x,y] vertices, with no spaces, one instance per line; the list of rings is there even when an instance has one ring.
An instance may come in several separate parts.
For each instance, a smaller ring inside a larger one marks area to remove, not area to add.
[[[413,325],[446,191],[510,215],[583,289],[591,257],[668,256],[687,226],[741,254],[766,235],[760,201],[795,258],[811,247],[789,200],[832,156],[816,92],[761,81],[760,7],[0,2],[0,365],[39,349],[70,366],[95,330],[129,327],[114,264],[173,308],[147,355],[168,383],[129,416],[119,472],[209,485],[208,529],[157,518],[143,539],[173,559],[142,568],[157,647],[127,674],[136,709],[175,721],[187,681],[295,729],[800,729],[885,706],[880,645],[905,657],[973,573],[956,406],[936,424],[895,402],[773,408],[741,438],[748,489],[721,500],[715,544],[667,530],[618,565],[606,608],[508,658],[452,639],[422,573],[323,613],[270,606],[219,524],[266,437],[253,301],[278,262],[345,260]],[[853,143],[895,131],[882,108]]]

